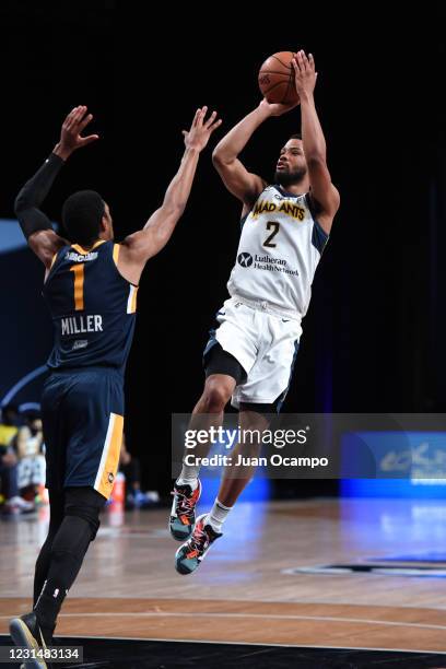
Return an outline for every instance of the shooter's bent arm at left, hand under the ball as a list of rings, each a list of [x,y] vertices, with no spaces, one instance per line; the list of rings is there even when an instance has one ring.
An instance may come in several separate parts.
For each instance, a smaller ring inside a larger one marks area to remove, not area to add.
[[[250,209],[266,181],[248,172],[238,160],[254,131],[270,116],[281,116],[296,105],[271,104],[262,99],[256,109],[243,118],[215,146],[212,162],[227,190],[238,198],[244,208]]]

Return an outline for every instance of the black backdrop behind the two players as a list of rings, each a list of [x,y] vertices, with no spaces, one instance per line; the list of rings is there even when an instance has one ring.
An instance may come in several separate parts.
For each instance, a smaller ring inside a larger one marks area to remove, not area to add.
[[[126,420],[144,483],[168,490],[169,415],[191,411],[201,392],[201,352],[237,248],[240,207],[213,169],[211,151],[258,104],[257,70],[279,50],[315,55],[316,104],[342,200],[284,410],[443,410],[442,4],[426,2],[412,14],[394,9],[392,16],[389,3],[356,10],[319,3],[305,11],[246,5],[244,19],[228,4],[136,7],[2,3],[0,215],[13,216],[14,196],[51,151],[64,115],[86,104],[101,142],[70,159],[46,211],[58,220],[68,195],[96,189],[120,239],[161,204],[183,153],[180,131],[197,106],[222,116],[187,211],[168,246],[148,263],[139,291]],[[298,109],[269,119],[243,153],[246,166],[272,178],[281,145],[298,129]],[[2,290],[11,296],[14,283],[3,274]],[[16,300],[3,298],[12,305],[3,332],[23,319],[23,280],[15,278]],[[45,309],[36,285],[30,291],[37,295],[35,309]],[[30,340],[39,336],[47,338],[48,329]],[[2,347],[0,355],[21,352]],[[293,491],[336,488],[324,485],[297,482]]]

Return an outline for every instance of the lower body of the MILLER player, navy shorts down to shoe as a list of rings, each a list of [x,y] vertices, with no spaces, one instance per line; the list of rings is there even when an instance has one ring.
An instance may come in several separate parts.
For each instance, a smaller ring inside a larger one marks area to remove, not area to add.
[[[48,644],[111,492],[122,441],[122,378],[113,369],[59,373],[46,383],[47,484],[50,490],[61,486],[64,491],[63,519],[47,547],[48,560],[38,565],[46,577],[33,611],[11,621],[15,643],[26,641],[28,647]],[[57,422],[61,430],[52,433],[50,427]],[[36,574],[36,587],[40,579]]]

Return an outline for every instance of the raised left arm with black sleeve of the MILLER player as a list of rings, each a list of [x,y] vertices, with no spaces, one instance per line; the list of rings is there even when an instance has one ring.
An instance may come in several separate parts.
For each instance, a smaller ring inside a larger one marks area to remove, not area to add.
[[[97,134],[81,137],[82,130],[92,120],[86,107],[74,107],[62,124],[60,141],[50,156],[36,174],[23,186],[14,202],[14,211],[23,234],[32,248],[48,269],[52,256],[67,244],[66,239],[55,233],[48,216],[40,211],[40,204],[47,197],[60,168],[71,153],[97,139]]]

